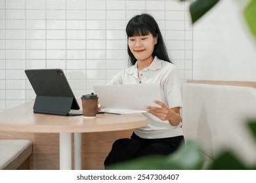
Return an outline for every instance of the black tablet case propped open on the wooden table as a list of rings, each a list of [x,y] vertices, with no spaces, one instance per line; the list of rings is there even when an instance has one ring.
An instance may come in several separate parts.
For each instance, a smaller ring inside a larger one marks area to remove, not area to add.
[[[37,95],[33,112],[68,116],[71,109],[79,109],[62,69],[28,69],[25,73]]]

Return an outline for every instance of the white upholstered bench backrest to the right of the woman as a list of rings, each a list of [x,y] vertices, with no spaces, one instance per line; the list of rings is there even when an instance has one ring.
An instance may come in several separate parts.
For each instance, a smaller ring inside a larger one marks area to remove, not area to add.
[[[214,84],[183,85],[182,129],[200,142],[209,158],[232,150],[246,163],[256,161],[256,144],[247,127],[256,119],[256,88]]]

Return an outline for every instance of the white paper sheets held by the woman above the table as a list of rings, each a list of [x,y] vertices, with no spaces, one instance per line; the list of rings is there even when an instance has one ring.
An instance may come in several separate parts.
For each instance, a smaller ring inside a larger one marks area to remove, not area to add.
[[[120,84],[93,86],[102,111],[114,114],[146,112],[146,106],[161,101],[159,84]]]

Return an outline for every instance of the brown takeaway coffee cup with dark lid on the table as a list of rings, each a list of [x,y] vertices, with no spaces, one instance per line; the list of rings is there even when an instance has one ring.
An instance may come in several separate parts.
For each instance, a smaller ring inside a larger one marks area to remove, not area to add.
[[[94,93],[83,95],[81,101],[83,106],[83,116],[86,118],[95,118],[98,108],[98,96]]]

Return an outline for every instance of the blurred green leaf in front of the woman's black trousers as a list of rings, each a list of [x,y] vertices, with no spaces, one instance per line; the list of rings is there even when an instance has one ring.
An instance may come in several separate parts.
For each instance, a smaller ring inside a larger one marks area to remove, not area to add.
[[[202,149],[197,142],[188,141],[169,156],[146,156],[133,161],[110,165],[106,169],[121,170],[171,170],[201,169],[203,165]]]

